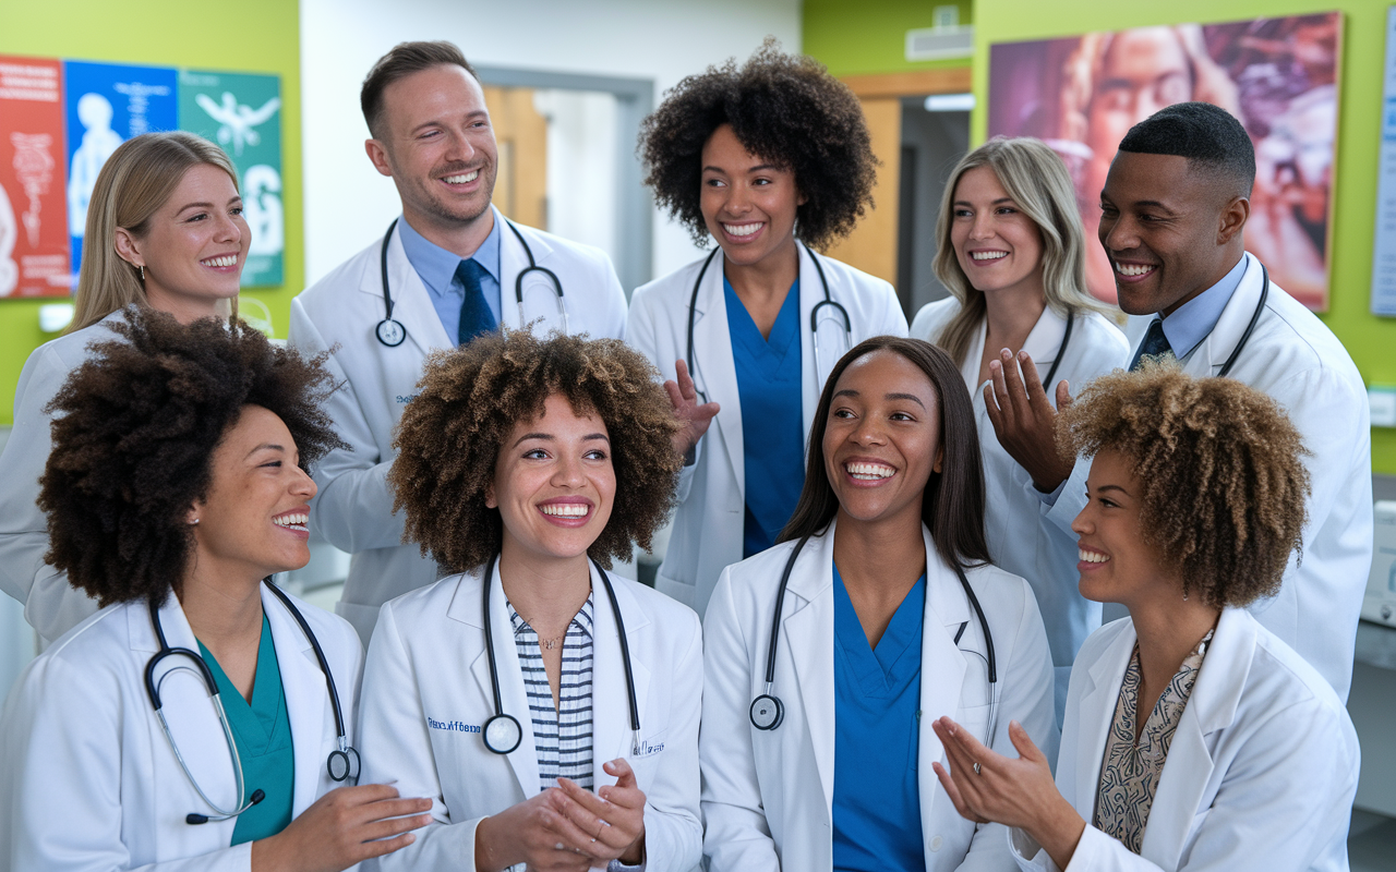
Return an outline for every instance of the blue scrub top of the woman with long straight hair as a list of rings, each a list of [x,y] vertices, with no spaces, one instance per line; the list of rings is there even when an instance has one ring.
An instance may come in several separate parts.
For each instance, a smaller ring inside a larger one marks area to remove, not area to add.
[[[926,872],[920,746],[926,576],[877,649],[833,568],[833,869]]]

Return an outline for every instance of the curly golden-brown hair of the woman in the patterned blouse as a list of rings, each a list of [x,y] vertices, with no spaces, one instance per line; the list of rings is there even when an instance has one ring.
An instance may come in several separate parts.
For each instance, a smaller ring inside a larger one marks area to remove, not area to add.
[[[1064,451],[1115,451],[1143,490],[1141,527],[1209,606],[1273,596],[1302,551],[1308,455],[1289,416],[1230,378],[1148,363],[1090,382],[1057,417]]]

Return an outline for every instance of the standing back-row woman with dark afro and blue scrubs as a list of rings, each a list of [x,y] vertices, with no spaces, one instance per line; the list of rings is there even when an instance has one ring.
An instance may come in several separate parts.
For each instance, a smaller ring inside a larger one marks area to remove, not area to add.
[[[718,575],[790,520],[833,364],[870,336],[905,336],[906,315],[891,285],[815,251],[871,205],[877,163],[857,98],[817,61],[768,42],[683,80],[641,152],[659,204],[718,243],[637,289],[625,326],[684,424],[656,587],[702,614]]]

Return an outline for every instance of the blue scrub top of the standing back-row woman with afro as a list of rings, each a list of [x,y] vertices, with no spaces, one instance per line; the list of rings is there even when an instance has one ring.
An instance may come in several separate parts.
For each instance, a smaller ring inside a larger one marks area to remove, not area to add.
[[[800,279],[786,293],[766,339],[727,276],[727,332],[741,398],[747,518],[741,555],[775,544],[804,487],[804,402],[800,391]]]

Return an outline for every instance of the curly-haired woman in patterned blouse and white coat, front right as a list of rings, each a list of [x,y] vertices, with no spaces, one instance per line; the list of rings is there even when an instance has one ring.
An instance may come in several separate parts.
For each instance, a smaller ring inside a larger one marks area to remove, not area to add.
[[[1055,783],[1020,727],[1004,756],[935,723],[955,806],[1013,827],[1023,869],[1346,869],[1353,723],[1247,610],[1301,546],[1298,431],[1238,381],[1146,364],[1092,382],[1057,433],[1094,458],[1081,593],[1129,617],[1076,656]]]

